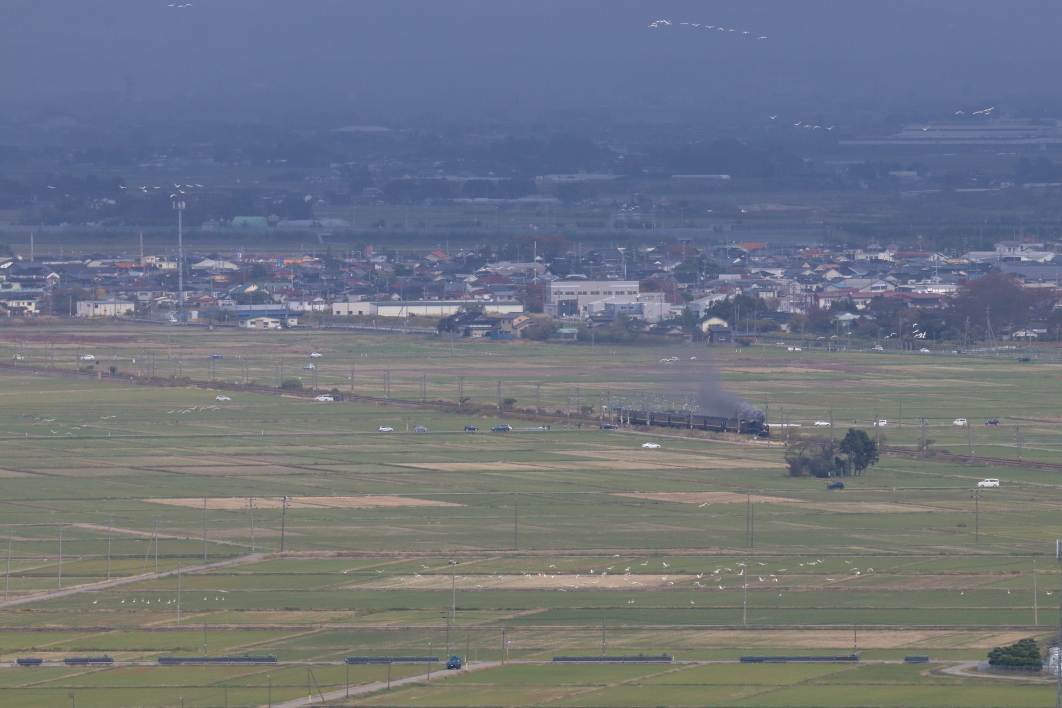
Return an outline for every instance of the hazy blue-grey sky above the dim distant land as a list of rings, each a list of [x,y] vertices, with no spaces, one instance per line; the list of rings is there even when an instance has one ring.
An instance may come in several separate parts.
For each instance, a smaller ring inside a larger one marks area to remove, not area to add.
[[[169,4],[5,0],[0,110],[358,122],[1062,97],[1058,0]]]

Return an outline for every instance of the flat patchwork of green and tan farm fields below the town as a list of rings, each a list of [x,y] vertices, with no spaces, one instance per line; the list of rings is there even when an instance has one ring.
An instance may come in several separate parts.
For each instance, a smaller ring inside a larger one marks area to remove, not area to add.
[[[175,706],[179,697],[221,706],[226,690],[228,705],[264,705],[267,677],[274,703],[306,695],[306,667],[284,662],[310,662],[327,693],[343,687],[336,662],[352,654],[538,662],[604,649],[704,662],[855,650],[867,661],[927,654],[946,662],[1057,633],[1060,472],[885,455],[827,493],[822,480],[786,476],[778,429],[770,444],[597,429],[610,402],[681,409],[710,365],[735,393],[769,401],[772,421],[784,410],[801,422],[799,432],[833,412],[838,434],[856,425],[913,447],[922,427],[912,424],[926,417],[930,449],[964,454],[972,442],[978,455],[1014,460],[1020,439],[1023,459],[1062,463],[1054,403],[1062,364],[1046,356],[1017,364],[460,341],[451,355],[448,340],[335,330],[64,325],[21,329],[18,340],[13,330],[0,329],[0,356],[29,353],[17,370],[0,369],[0,552],[11,549],[0,661],[106,653],[150,664],[164,654],[249,652],[281,663],[0,668],[0,706],[65,706],[71,691],[85,706]],[[179,347],[184,376],[228,383],[58,378],[45,375],[53,345],[70,360],[79,348],[117,357],[119,372],[154,357],[156,375],[167,347]],[[308,378],[309,350],[324,357]],[[211,370],[206,356],[216,351],[225,358]],[[671,357],[679,360],[661,361]],[[258,362],[246,370],[260,376],[297,370],[307,387],[315,374],[319,390],[342,392],[354,366],[357,395],[407,402],[241,390],[242,361]],[[499,380],[516,411],[494,408]],[[422,384],[429,401],[455,401],[459,387],[473,400],[467,410],[413,404]],[[219,394],[232,400],[216,401]],[[593,412],[555,413],[583,405]],[[973,425],[953,426],[956,417]],[[1001,425],[983,425],[989,417]],[[889,424],[878,431],[875,418]],[[496,422],[517,430],[463,432]],[[413,426],[430,432],[407,433]],[[641,448],[647,441],[662,448]],[[1001,486],[975,493],[986,477]],[[235,563],[200,568],[225,560]],[[166,574],[178,564],[179,580]],[[130,582],[45,597],[108,575]],[[516,663],[347,704],[1024,706],[1054,697],[1054,686],[938,668]],[[394,678],[424,670],[392,667]],[[386,671],[352,667],[352,681],[382,680]]]

